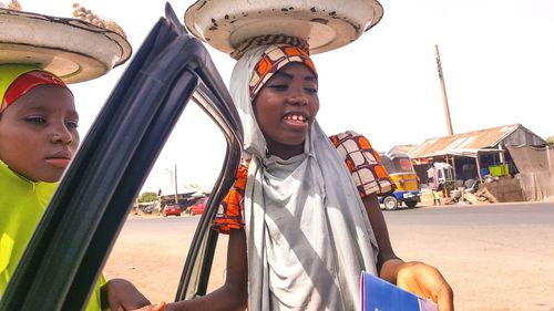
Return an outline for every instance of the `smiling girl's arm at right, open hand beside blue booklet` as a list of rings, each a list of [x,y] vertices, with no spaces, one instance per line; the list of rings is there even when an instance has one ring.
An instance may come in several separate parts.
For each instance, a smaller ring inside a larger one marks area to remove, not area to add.
[[[404,262],[397,257],[390,243],[377,194],[366,196],[362,201],[379,246],[377,257],[379,277],[419,297],[433,300],[441,311],[454,310],[452,288],[437,268],[419,261]]]

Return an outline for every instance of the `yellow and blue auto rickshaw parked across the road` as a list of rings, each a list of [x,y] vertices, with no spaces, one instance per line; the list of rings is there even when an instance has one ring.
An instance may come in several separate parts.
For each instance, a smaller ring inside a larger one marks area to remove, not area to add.
[[[421,200],[421,191],[411,158],[406,153],[400,152],[380,153],[379,156],[396,186],[393,193],[379,197],[382,208],[393,210],[402,204],[406,204],[408,207],[418,205]]]

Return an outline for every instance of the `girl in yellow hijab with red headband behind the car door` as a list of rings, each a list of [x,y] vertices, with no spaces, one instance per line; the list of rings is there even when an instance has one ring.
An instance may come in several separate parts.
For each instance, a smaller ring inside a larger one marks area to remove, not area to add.
[[[78,125],[62,80],[33,65],[0,64],[0,297],[76,152]],[[150,304],[130,282],[101,277],[86,310]]]

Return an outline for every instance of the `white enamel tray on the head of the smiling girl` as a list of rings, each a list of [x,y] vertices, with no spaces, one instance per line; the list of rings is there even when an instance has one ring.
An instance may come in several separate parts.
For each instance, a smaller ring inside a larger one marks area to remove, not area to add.
[[[307,39],[310,52],[321,53],[357,40],[382,13],[377,0],[198,0],[185,25],[225,53],[264,34]]]

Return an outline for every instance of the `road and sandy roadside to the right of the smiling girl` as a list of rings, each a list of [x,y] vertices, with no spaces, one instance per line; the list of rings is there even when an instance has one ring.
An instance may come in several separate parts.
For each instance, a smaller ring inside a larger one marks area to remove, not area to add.
[[[440,268],[456,310],[554,310],[554,204],[384,212],[404,260]]]

